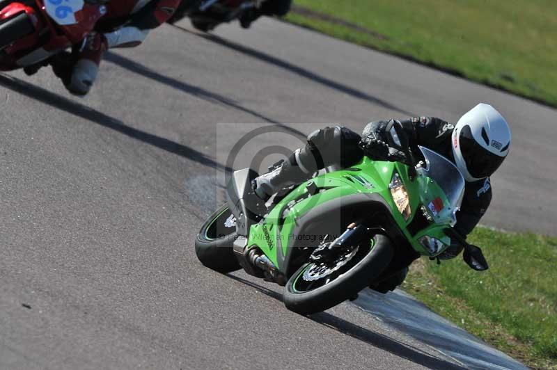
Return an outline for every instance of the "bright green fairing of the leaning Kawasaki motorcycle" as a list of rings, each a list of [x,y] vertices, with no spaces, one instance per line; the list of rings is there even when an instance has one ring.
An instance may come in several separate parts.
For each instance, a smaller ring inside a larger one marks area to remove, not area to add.
[[[414,181],[410,181],[408,170],[407,165],[399,162],[373,161],[364,157],[361,162],[351,168],[314,177],[288,193],[283,200],[269,211],[262,222],[251,226],[248,246],[249,248],[258,247],[280,270],[281,262],[287,254],[288,248],[295,246],[296,238],[292,235],[292,230],[294,230],[297,217],[306,214],[313,207],[336,198],[356,193],[377,193],[393,209],[392,214],[395,222],[405,234],[411,246],[421,255],[428,257],[439,255],[450,244],[450,239],[443,231],[448,227],[448,221],[439,223],[439,220],[436,219],[436,223],[431,223],[424,230],[417,232],[415,236],[409,233],[407,226],[418,212],[422,212],[421,204],[427,207],[427,204],[432,200],[441,198],[444,207],[448,207],[448,200],[441,187],[435,184],[430,177],[419,175]],[[400,175],[409,195],[411,214],[408,220],[405,220],[398,211],[389,189],[395,171]],[[310,195],[307,188],[310,182],[314,182],[317,188],[324,188],[324,190]],[[426,191],[421,193],[421,189],[426,189]],[[297,203],[293,207],[289,207],[288,204],[296,200],[298,200]],[[442,241],[445,245],[444,248],[437,250],[434,254],[426,250],[418,242],[418,239],[425,235]],[[279,241],[281,248],[277,248],[277,241]],[[280,257],[278,253],[281,254]]]

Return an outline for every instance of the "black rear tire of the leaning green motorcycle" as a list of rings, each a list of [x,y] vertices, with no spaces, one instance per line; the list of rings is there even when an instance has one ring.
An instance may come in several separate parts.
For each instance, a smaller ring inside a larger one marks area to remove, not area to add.
[[[199,262],[219,273],[230,273],[241,268],[234,251],[236,227],[226,227],[232,213],[225,204],[205,221],[196,238],[196,255]]]

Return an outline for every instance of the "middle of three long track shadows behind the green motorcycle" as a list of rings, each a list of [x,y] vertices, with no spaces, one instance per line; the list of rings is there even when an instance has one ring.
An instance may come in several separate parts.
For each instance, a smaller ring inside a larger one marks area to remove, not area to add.
[[[272,120],[271,118],[268,118],[267,116],[262,115],[261,113],[258,113],[256,111],[253,111],[249,108],[245,108],[244,106],[241,106],[240,104],[235,102],[233,99],[224,97],[223,95],[219,95],[217,93],[212,93],[208,90],[205,90],[204,88],[199,88],[197,86],[190,85],[189,83],[185,83],[183,81],[178,81],[176,79],[172,79],[170,77],[164,76],[163,74],[151,70],[150,68],[141,65],[135,61],[132,61],[131,59],[125,58],[124,56],[107,52],[106,54],[104,54],[104,61],[109,61],[110,63],[113,63],[115,65],[118,65],[119,67],[124,68],[125,70],[129,70],[136,74],[140,74],[143,77],[148,77],[149,79],[152,79],[159,83],[164,83],[166,86],[170,86],[171,88],[180,90],[183,93],[194,95],[199,99],[205,100],[205,102],[217,102],[219,104],[229,106],[230,108],[234,108],[237,109],[238,111],[242,111],[244,113],[253,115],[256,118],[260,118],[265,122],[274,123],[278,126],[285,127],[289,131],[292,131],[294,134],[297,134],[298,136],[303,136],[304,138],[306,137],[306,134],[304,134],[303,132],[298,131],[297,129],[293,129],[292,127],[285,126],[284,124]]]

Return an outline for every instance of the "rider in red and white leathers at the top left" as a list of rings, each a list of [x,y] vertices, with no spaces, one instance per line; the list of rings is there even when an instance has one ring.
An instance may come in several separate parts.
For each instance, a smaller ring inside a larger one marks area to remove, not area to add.
[[[107,14],[97,22],[77,52],[77,58],[61,54],[52,61],[56,76],[76,95],[86,95],[97,79],[102,55],[115,47],[136,47],[170,18],[181,0],[118,0],[106,2]],[[115,29],[115,26],[121,28]],[[104,32],[106,31],[106,32]]]

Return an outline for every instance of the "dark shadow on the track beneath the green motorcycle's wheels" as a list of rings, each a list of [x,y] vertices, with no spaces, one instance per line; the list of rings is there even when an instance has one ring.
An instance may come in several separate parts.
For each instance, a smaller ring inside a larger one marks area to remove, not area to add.
[[[234,275],[226,274],[226,276],[228,276],[228,278],[236,280],[237,282],[241,282],[242,284],[249,285],[250,287],[257,289],[266,296],[269,296],[276,300],[280,300],[281,302],[283,301],[282,295],[280,293],[276,293],[276,291],[261,287],[258,284],[255,284],[248,280],[244,280]],[[292,314],[294,313],[292,312]],[[331,315],[328,312],[313,314],[311,316],[308,316],[308,319],[311,319],[316,323],[320,323],[321,325],[325,325],[328,328],[342,332],[345,335],[350,335],[350,337],[364,341],[371,346],[381,348],[384,351],[393,353],[393,355],[403,357],[407,360],[415,362],[416,364],[421,364],[422,366],[428,367],[430,369],[466,369],[465,367],[453,364],[452,362],[433,357],[432,355],[429,355],[418,348],[408,346],[401,341],[386,337],[384,335],[378,334],[377,332],[372,332],[371,330],[362,328],[361,326],[354,325],[353,323],[350,323],[349,321],[346,321],[344,319],[340,319],[340,317]]]

